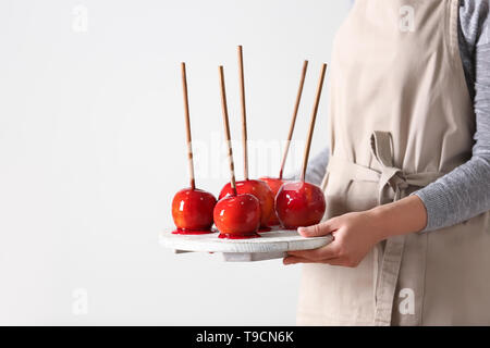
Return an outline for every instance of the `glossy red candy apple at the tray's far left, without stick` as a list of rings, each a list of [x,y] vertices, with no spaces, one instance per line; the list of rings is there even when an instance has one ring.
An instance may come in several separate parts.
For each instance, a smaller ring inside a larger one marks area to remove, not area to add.
[[[210,232],[216,203],[213,195],[197,188],[176,192],[172,201],[172,217],[177,233]]]

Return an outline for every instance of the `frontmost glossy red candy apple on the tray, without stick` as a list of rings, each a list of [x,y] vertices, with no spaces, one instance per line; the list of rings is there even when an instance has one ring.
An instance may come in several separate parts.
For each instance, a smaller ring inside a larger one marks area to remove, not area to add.
[[[255,237],[260,225],[260,203],[252,195],[225,196],[215,207],[215,224],[220,237]]]

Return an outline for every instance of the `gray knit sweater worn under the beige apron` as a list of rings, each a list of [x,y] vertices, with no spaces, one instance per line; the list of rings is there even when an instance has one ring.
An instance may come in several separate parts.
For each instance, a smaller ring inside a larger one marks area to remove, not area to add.
[[[463,0],[460,49],[476,114],[471,159],[415,192],[424,202],[426,232],[452,226],[490,210],[490,23],[489,0]],[[308,163],[306,179],[319,184],[328,149]]]

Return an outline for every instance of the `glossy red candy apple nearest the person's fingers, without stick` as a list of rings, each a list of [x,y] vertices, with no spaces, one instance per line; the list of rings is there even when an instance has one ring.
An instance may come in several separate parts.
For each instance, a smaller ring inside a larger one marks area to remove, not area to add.
[[[324,210],[323,191],[305,182],[282,185],[275,197],[275,213],[285,228],[316,225],[323,217]]]

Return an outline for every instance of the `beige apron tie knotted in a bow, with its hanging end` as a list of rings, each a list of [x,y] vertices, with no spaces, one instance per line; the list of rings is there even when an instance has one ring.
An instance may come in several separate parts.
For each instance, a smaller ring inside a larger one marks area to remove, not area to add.
[[[332,156],[327,167],[327,175],[335,173],[352,181],[378,183],[379,204],[390,201],[390,199],[385,199],[388,195],[384,195],[388,187],[394,192],[391,201],[396,201],[402,198],[409,186],[424,187],[444,175],[440,172],[406,174],[402,169],[394,166],[393,141],[388,132],[373,132],[370,137],[370,146],[380,171]],[[404,246],[405,236],[396,236],[387,240],[376,286],[376,325],[391,324]]]

